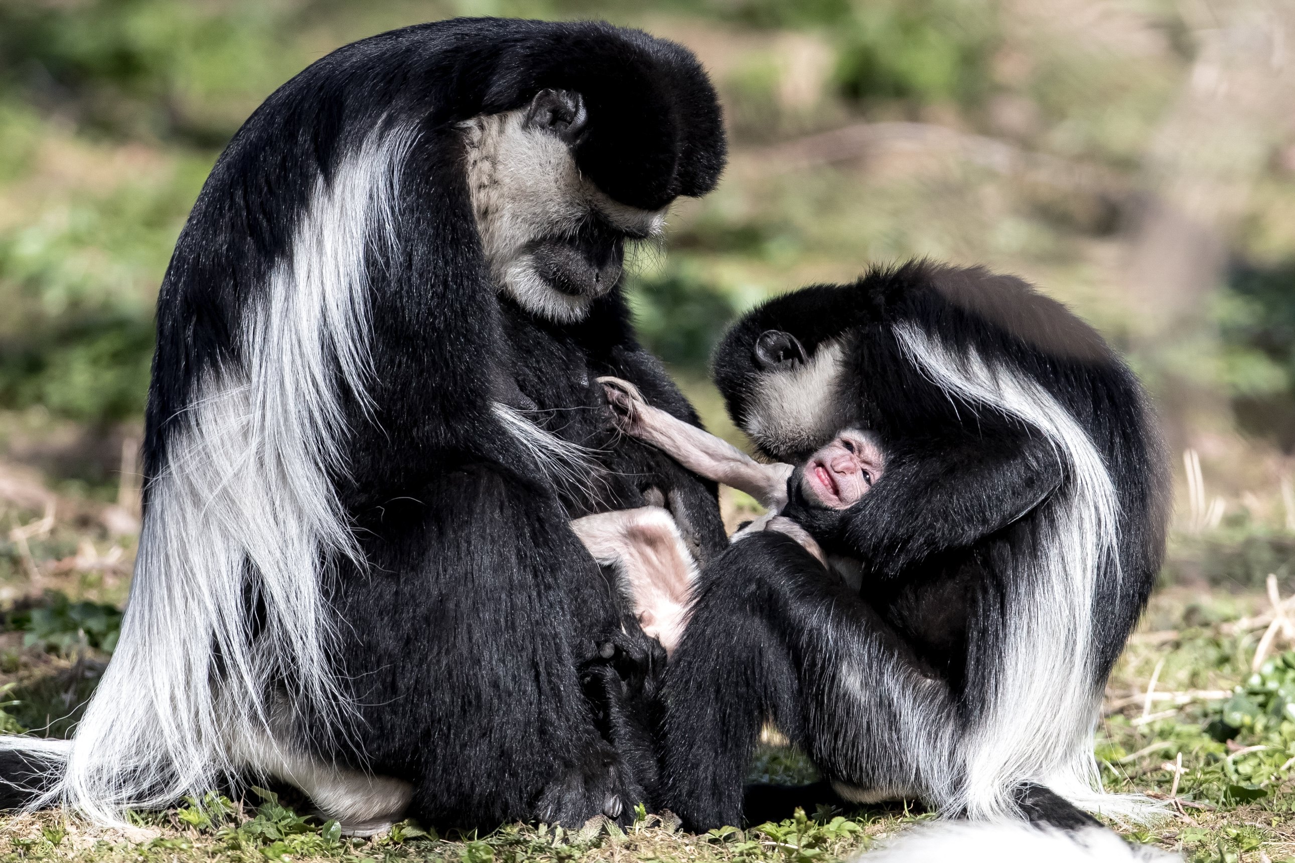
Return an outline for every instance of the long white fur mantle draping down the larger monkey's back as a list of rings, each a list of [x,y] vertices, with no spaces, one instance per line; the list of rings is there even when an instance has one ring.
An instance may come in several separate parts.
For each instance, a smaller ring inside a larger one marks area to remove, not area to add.
[[[120,642],[61,781],[32,807],[62,801],[120,824],[127,807],[201,797],[223,775],[294,757],[247,765],[236,754],[267,740],[293,748],[268,734],[280,673],[291,687],[281,697],[346,718],[321,590],[329,560],[363,565],[329,479],[347,468],[338,389],[366,404],[364,255],[394,242],[398,177],[413,140],[376,132],[330,184],[316,181],[287,255],[245,311],[238,362],[211,370],[174,419],[166,467],[149,486]],[[264,608],[255,639],[247,589]],[[0,745],[31,752],[40,741]]]

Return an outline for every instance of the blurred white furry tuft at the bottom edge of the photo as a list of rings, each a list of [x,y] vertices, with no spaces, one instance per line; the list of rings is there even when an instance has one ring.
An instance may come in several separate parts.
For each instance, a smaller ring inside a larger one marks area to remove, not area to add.
[[[916,827],[852,863],[1171,863],[1180,857],[1149,845],[1131,845],[1118,833],[1039,828],[1020,822],[997,824],[939,822]]]

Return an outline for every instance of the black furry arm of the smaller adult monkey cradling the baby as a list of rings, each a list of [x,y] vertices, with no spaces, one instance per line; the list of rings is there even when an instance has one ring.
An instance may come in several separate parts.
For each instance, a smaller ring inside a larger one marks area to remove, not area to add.
[[[795,496],[783,510],[865,571],[897,576],[923,559],[965,549],[1052,497],[1066,479],[1053,445],[1035,430],[985,419],[976,433],[939,444],[905,441],[886,472],[848,510],[822,510]]]

